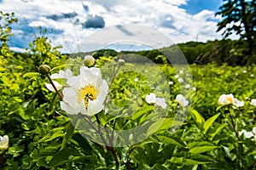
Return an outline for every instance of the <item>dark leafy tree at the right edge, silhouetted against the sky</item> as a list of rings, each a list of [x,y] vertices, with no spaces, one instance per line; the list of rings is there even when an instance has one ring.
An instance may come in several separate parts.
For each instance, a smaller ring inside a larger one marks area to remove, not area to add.
[[[224,37],[236,33],[247,42],[247,55],[253,54],[253,43],[256,37],[256,5],[255,0],[223,0],[223,5],[215,15],[223,20],[218,22],[218,30]]]

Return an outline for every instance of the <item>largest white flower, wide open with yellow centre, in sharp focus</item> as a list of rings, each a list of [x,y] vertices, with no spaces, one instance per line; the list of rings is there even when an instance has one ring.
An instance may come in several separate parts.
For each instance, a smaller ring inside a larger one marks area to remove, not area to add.
[[[67,114],[95,115],[104,108],[108,83],[102,80],[101,71],[95,67],[82,66],[80,74],[67,79],[70,88],[63,88],[61,109]]]

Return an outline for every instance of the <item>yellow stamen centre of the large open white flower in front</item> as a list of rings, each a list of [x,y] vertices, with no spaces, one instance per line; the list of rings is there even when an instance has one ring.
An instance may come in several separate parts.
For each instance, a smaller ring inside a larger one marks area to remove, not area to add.
[[[79,94],[78,94],[79,104],[84,99],[84,105],[85,105],[85,108],[87,109],[89,99],[90,100],[96,99],[98,94],[99,94],[99,91],[95,88],[95,85],[93,84],[88,84],[84,88],[80,88]]]

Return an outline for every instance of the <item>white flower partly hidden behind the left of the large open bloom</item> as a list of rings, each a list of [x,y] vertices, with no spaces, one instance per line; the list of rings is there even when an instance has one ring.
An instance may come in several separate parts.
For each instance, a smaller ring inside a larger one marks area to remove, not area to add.
[[[68,79],[72,77],[72,71],[67,69],[66,71],[59,71],[59,73],[54,73],[50,76],[51,79]],[[52,81],[55,84],[55,87],[60,90],[62,88],[61,84],[56,81]],[[45,83],[46,88],[49,89],[49,91],[54,92],[55,88],[50,83]]]

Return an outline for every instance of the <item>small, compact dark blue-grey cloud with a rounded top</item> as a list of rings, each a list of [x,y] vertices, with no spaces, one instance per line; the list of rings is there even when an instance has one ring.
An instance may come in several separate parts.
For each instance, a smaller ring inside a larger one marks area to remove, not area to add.
[[[103,20],[102,16],[89,15],[82,26],[83,28],[103,28],[105,26],[105,21]]]

